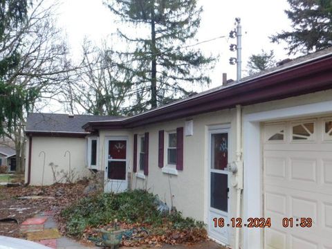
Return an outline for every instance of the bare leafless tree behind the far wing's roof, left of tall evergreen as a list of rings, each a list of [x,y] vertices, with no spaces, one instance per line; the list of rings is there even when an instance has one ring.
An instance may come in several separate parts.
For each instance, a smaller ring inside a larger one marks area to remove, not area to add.
[[[132,74],[123,68],[118,54],[106,42],[100,48],[84,39],[82,64],[70,73],[64,89],[66,109],[83,110],[93,115],[118,116],[129,104],[128,95],[133,91]],[[81,111],[82,112],[82,111]]]

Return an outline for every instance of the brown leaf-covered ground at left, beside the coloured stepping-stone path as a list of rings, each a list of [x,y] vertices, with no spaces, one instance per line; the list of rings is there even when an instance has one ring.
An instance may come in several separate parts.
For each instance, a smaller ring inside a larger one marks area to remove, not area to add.
[[[19,224],[43,211],[53,211],[58,216],[64,208],[82,199],[87,181],[75,184],[55,184],[46,187],[0,186],[0,219],[12,217],[17,223],[0,222],[0,235],[23,237]],[[21,199],[21,198],[24,199]]]

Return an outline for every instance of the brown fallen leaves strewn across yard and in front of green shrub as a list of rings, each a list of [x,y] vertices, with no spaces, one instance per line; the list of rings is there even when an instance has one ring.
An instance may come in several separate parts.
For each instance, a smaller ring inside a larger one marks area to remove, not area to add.
[[[86,185],[88,183],[82,181],[75,184],[57,183],[44,187],[0,187],[0,219],[11,216],[21,223],[39,212],[52,210],[57,219],[59,231],[66,234],[66,220],[59,214],[64,208],[82,199]],[[19,197],[24,196],[30,197],[19,199]],[[32,196],[42,198],[31,198]],[[99,230],[107,228],[108,225],[100,225],[97,228],[87,227],[84,230],[82,241],[92,244],[93,242],[89,241],[89,238],[100,238]],[[155,226],[149,223],[126,222],[118,222],[118,225],[120,229],[133,231],[130,237],[122,237],[122,246],[161,247],[164,243],[192,245],[207,239],[204,228],[176,229],[172,228],[173,223],[167,219],[163,221],[163,224]],[[18,228],[19,226],[15,223],[2,223],[0,224],[0,234],[10,237],[22,237]],[[148,232],[145,232],[145,230]]]

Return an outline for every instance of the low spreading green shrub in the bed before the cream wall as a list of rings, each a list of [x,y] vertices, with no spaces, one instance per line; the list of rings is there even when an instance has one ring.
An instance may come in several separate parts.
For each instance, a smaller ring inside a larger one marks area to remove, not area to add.
[[[184,230],[203,228],[204,224],[194,219],[184,219],[180,212],[161,214],[157,210],[156,196],[144,190],[132,190],[119,194],[88,196],[79,203],[62,211],[68,234],[80,237],[84,230],[112,223],[142,223],[153,228]],[[156,229],[158,230],[158,229]]]

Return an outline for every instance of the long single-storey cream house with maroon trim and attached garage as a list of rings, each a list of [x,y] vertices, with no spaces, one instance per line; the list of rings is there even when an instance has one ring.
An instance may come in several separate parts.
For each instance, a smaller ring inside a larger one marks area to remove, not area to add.
[[[40,184],[41,151],[61,150],[52,160],[68,165],[71,145],[80,165],[86,155],[87,169],[104,172],[105,191],[154,192],[232,248],[332,248],[331,49],[82,125],[80,138],[26,131],[27,182]]]

